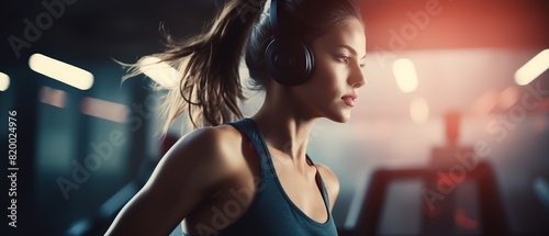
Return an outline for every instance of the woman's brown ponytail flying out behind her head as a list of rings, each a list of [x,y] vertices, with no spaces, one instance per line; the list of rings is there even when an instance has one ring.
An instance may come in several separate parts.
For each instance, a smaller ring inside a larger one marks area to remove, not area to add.
[[[238,68],[250,31],[265,8],[266,0],[229,0],[206,31],[178,42],[167,35],[167,50],[152,55],[175,67],[178,85],[166,88],[160,114],[166,116],[163,135],[184,111],[188,128],[216,126],[242,119],[237,99],[245,100]],[[147,57],[130,65],[123,80],[144,72]],[[183,127],[184,127],[183,126]]]

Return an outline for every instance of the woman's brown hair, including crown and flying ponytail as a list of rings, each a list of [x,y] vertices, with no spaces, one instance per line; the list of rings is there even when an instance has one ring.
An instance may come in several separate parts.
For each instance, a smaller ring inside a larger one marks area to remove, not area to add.
[[[279,20],[284,32],[306,43],[349,18],[361,21],[352,0],[281,3]],[[272,32],[269,15],[261,15],[265,5],[266,0],[228,0],[203,33],[182,42],[167,35],[167,50],[152,55],[179,71],[178,88],[168,88],[161,104],[161,114],[167,119],[163,134],[184,111],[191,130],[243,117],[237,99],[246,99],[238,74],[244,52],[253,89],[268,86],[264,54]],[[144,58],[128,65],[130,72],[123,80],[143,72]]]

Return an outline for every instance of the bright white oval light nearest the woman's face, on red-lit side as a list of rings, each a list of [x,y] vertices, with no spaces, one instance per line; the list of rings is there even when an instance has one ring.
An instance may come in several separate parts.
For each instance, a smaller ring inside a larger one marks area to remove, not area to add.
[[[417,89],[417,74],[414,63],[406,58],[393,63],[393,74],[396,85],[403,92],[413,92]]]

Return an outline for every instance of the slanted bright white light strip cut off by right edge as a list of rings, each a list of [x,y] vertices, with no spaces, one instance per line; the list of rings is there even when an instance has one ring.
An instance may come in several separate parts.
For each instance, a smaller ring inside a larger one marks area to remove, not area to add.
[[[515,72],[515,82],[526,86],[549,69],[549,49],[541,50]]]

